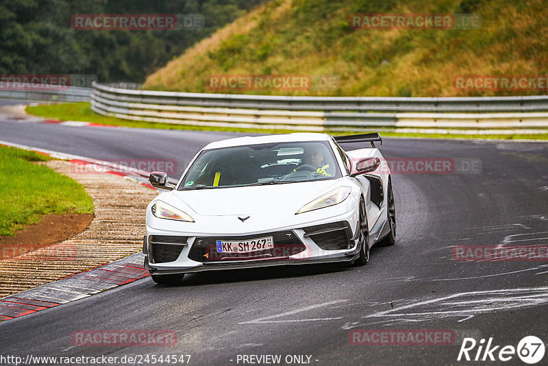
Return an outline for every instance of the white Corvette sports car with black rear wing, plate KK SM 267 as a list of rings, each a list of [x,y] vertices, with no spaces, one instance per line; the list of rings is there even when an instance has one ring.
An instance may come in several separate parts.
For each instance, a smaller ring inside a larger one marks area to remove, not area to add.
[[[297,133],[210,143],[147,207],[145,268],[160,284],[184,273],[273,265],[365,265],[396,234],[379,134]],[[341,145],[362,143],[361,149]]]

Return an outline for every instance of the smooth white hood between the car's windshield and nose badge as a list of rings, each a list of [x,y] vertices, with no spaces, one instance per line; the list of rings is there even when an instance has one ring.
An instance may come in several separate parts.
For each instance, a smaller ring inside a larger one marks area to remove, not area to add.
[[[252,215],[258,212],[299,210],[323,193],[336,188],[340,180],[295,182],[271,186],[210,188],[171,191],[198,215]]]

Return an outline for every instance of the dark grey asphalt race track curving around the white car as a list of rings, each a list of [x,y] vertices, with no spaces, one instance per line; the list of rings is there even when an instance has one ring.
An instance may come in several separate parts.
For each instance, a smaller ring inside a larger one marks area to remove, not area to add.
[[[236,135],[0,117],[1,141],[99,159],[174,159],[179,174],[203,145]],[[175,287],[145,278],[1,322],[1,353],[190,354],[191,365],[237,365],[238,354],[281,354],[282,360],[311,355],[316,365],[440,365],[458,364],[460,341],[351,345],[349,332],[446,329],[493,337],[496,345],[515,347],[527,335],[546,342],[548,260],[464,262],[454,260],[452,250],[455,245],[548,245],[548,144],[386,139],[380,148],[386,158],[473,159],[481,169],[394,174],[396,245],[372,249],[365,267],[197,273]],[[173,330],[178,341],[169,347],[71,343],[76,330],[127,329]],[[515,355],[506,364],[523,365]]]

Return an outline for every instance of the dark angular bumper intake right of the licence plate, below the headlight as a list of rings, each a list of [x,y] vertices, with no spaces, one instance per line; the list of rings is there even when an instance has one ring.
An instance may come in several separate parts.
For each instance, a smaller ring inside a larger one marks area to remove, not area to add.
[[[303,230],[323,250],[349,249],[352,246],[352,230],[347,221],[309,226]]]

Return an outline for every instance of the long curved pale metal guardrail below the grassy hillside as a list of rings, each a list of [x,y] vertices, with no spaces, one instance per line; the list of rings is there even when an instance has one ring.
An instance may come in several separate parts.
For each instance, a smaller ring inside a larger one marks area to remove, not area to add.
[[[160,92],[94,83],[92,110],[138,121],[296,130],[548,128],[548,96],[283,97]]]

